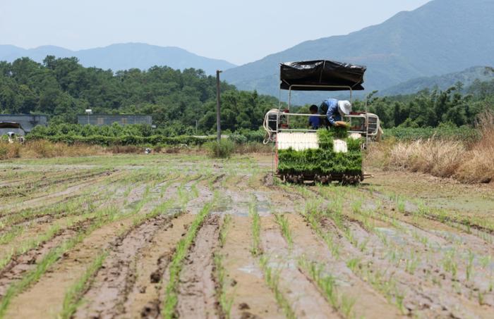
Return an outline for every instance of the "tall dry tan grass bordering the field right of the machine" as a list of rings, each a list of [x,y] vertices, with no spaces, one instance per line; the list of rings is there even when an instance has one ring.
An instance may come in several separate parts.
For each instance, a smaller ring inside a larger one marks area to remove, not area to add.
[[[366,156],[371,166],[405,169],[460,182],[488,183],[494,180],[494,114],[478,118],[482,138],[472,145],[463,142],[428,139],[416,142],[387,140],[373,144]]]

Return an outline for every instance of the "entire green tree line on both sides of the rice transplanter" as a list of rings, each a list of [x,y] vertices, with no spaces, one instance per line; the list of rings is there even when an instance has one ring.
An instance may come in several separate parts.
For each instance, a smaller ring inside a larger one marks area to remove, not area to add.
[[[275,97],[243,92],[221,82],[222,128],[258,130]],[[401,96],[368,96],[368,109],[383,127],[472,125],[476,115],[494,106],[494,80],[464,88],[425,89]],[[50,124],[76,123],[76,115],[147,114],[163,135],[206,134],[216,129],[216,79],[193,68],[112,71],[85,68],[77,58],[47,56],[43,63],[20,58],[0,62],[0,113],[46,114]],[[363,110],[364,102],[354,102]],[[308,106],[294,108],[308,112]]]

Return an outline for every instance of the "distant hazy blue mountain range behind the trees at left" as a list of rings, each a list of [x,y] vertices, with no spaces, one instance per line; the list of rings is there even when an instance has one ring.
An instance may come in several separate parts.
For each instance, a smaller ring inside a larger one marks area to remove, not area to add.
[[[42,62],[48,56],[66,58],[75,56],[85,67],[95,66],[102,69],[128,70],[140,68],[146,70],[153,65],[167,65],[174,69],[201,68],[207,74],[216,70],[233,68],[234,64],[223,60],[205,58],[174,46],[152,46],[142,43],[112,44],[103,48],[71,51],[59,46],[40,46],[35,49],[22,49],[17,46],[0,45],[0,61],[14,61],[27,56]]]

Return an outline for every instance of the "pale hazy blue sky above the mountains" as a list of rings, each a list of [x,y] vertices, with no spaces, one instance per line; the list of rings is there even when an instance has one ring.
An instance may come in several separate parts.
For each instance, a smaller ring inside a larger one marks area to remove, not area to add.
[[[0,0],[0,44],[180,46],[241,64],[382,23],[429,0]]]

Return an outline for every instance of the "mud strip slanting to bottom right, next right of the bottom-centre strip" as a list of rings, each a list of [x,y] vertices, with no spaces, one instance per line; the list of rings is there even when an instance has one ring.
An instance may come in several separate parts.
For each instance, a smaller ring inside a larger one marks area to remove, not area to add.
[[[279,289],[297,318],[340,318],[313,283],[301,273],[297,261],[289,252],[287,242],[275,220],[261,218],[261,246],[268,265],[279,275]]]

